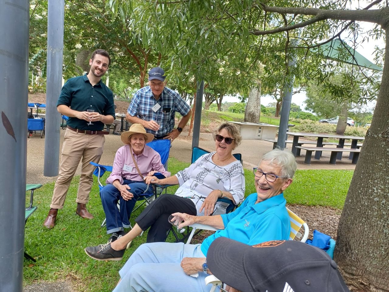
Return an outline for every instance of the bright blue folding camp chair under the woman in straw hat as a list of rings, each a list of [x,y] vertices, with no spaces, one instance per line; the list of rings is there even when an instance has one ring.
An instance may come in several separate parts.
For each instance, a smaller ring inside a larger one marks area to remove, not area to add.
[[[151,147],[155,151],[159,153],[161,156],[161,162],[165,169],[168,169],[168,158],[169,158],[169,152],[170,152],[170,140],[169,139],[161,139],[161,140],[153,140],[151,142],[148,142],[146,144],[147,146]],[[103,183],[100,181],[100,178],[103,176],[103,174],[106,171],[112,172],[112,166],[110,165],[101,165],[94,162],[90,162],[90,164],[94,165],[96,167],[93,174],[97,177],[99,190],[104,187]],[[165,178],[165,176],[159,172],[156,172],[154,176],[157,176],[157,178],[162,179]],[[137,210],[140,206],[143,206],[143,204],[150,204],[153,199],[156,199],[158,195],[160,195],[164,188],[168,187],[169,185],[149,185],[149,188],[145,190],[145,192],[140,196],[138,201],[144,200],[142,204],[138,205],[135,209],[133,209],[133,212]],[[120,209],[119,202],[117,204],[117,208]],[[103,223],[101,224],[101,227],[105,226],[105,219]],[[132,227],[130,226],[132,229]]]

